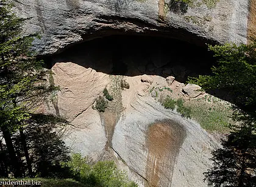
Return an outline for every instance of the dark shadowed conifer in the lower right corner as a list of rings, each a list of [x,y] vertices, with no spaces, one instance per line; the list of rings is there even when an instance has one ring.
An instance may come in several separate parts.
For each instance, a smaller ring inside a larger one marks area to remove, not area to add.
[[[256,186],[256,134],[250,127],[222,140],[212,160],[213,168],[204,173],[209,186]]]

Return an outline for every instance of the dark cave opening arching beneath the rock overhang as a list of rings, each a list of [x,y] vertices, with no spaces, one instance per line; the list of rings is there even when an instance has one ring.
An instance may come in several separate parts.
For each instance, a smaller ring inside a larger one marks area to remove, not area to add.
[[[207,45],[196,46],[177,39],[154,36],[113,35],[75,44],[51,56],[57,62],[73,62],[111,75],[159,75],[187,78],[210,73],[214,63]]]

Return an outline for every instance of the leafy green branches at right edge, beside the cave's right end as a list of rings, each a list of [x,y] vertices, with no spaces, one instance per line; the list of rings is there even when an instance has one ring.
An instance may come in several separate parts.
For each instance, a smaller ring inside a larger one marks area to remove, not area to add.
[[[218,57],[213,75],[190,78],[205,90],[224,89],[233,95],[234,104],[248,112],[256,106],[256,39],[251,44],[209,46]]]

